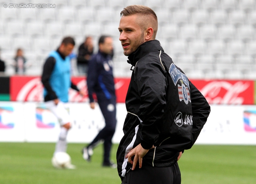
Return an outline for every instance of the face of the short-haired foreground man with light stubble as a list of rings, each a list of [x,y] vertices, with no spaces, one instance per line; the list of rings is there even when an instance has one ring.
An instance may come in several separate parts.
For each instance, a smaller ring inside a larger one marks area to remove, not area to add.
[[[141,30],[136,18],[138,15],[122,16],[119,24],[119,32],[124,55],[129,56],[145,42],[144,31]]]

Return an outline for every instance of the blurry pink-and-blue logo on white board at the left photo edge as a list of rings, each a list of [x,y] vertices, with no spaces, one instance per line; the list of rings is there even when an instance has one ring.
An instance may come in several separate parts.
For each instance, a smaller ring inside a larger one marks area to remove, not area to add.
[[[0,107],[0,129],[14,128],[13,107]]]

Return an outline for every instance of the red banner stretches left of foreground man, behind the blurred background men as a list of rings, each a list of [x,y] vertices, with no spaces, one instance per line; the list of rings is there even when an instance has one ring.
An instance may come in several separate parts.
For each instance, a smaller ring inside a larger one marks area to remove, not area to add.
[[[70,102],[87,102],[88,91],[86,79],[84,77],[72,77],[72,82],[78,86],[80,90],[86,92],[86,96],[82,97],[76,90],[70,89]],[[115,78],[115,88],[118,103],[124,103],[128,86],[129,78]],[[11,101],[21,102],[40,102],[44,100],[43,85],[41,78],[38,76],[12,76],[10,78],[10,99]]]

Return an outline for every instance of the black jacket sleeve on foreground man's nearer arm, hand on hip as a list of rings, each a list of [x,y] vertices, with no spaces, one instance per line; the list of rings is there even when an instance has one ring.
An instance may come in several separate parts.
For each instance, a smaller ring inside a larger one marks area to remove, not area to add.
[[[145,61],[137,72],[137,85],[140,94],[140,140],[144,149],[150,149],[159,135],[158,123],[166,106],[166,78],[164,69],[157,63]],[[135,79],[136,80],[136,79]]]

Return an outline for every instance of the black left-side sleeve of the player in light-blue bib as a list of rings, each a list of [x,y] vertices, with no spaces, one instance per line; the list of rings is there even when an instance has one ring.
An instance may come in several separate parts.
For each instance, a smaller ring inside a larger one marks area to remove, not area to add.
[[[57,95],[54,92],[54,90],[52,90],[52,86],[50,85],[50,76],[52,74],[52,71],[54,69],[55,66],[55,59],[54,57],[49,57],[46,62],[44,63],[44,68],[43,68],[43,73],[42,73],[42,83],[44,85],[44,87],[46,88],[48,95],[50,96],[51,100],[57,99]]]

